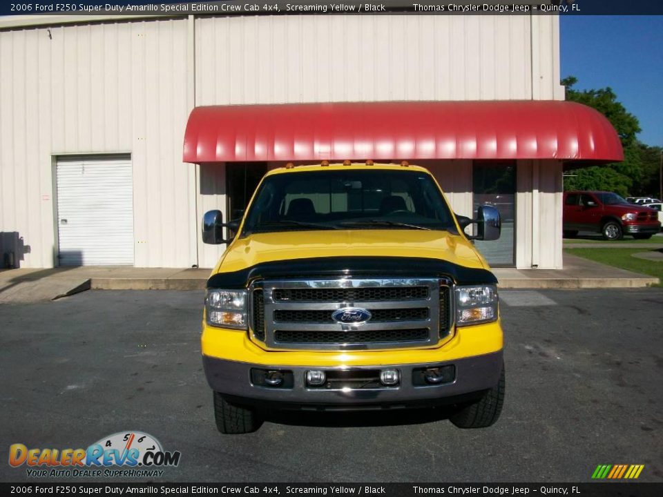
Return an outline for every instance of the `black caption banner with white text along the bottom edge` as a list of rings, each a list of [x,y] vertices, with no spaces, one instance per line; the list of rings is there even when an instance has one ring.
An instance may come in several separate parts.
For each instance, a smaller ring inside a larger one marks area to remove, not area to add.
[[[663,483],[0,483],[0,495],[662,496]]]

